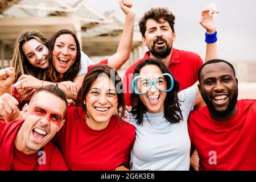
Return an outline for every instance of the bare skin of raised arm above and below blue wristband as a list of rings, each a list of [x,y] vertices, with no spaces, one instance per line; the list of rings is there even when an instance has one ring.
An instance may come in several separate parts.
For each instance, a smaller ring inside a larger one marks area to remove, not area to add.
[[[200,24],[205,28],[209,36],[214,36],[216,32],[216,24],[213,19],[213,15],[218,13],[217,10],[214,10],[212,7],[205,7],[201,12]],[[207,43],[205,62],[217,59],[217,42]]]

